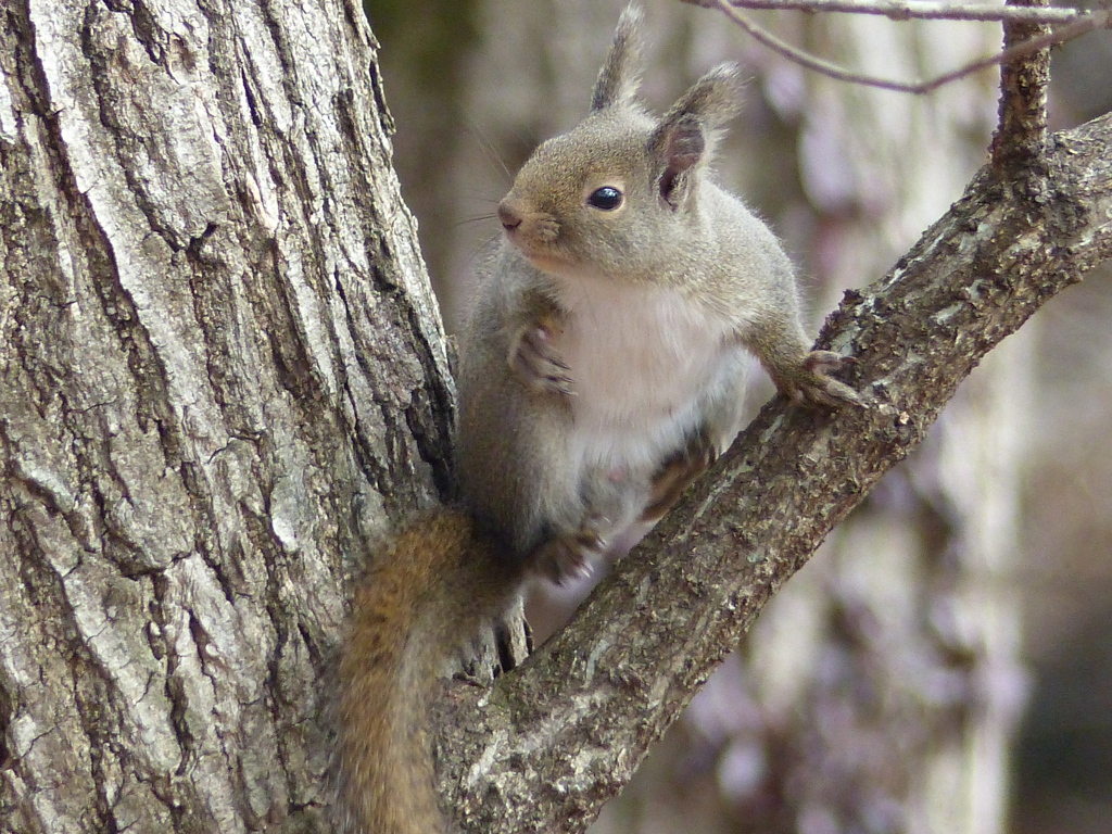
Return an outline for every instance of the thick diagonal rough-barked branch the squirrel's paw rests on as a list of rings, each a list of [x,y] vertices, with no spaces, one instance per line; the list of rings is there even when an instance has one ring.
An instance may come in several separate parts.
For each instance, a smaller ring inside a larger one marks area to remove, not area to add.
[[[468,830],[586,827],[981,358],[1112,257],[1110,141],[1109,116],[1052,137],[1039,190],[982,169],[887,276],[846,292],[820,337],[857,358],[870,409],[766,406],[567,629],[493,689],[453,692],[445,743],[471,765],[441,787]]]

